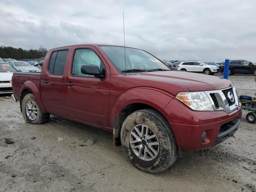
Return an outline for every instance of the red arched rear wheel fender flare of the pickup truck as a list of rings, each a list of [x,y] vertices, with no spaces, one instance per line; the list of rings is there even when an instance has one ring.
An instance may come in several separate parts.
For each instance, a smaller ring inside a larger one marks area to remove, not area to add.
[[[42,104],[42,100],[41,100],[41,95],[40,95],[40,91],[38,90],[38,87],[36,86],[36,84],[34,84],[34,82],[28,80],[26,82],[24,82],[21,86],[21,89],[20,89],[20,96],[22,96],[22,92],[24,90],[29,90],[36,98],[36,102],[38,104],[38,107],[40,108],[40,110],[43,112],[43,113],[46,113],[46,109],[44,108],[43,104]],[[22,99],[20,98],[20,101]],[[20,104],[21,105],[21,104]]]

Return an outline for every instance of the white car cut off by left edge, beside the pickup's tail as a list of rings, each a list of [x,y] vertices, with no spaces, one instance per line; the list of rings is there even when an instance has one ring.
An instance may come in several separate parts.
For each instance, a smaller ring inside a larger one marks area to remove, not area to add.
[[[0,62],[0,94],[12,93],[12,74],[18,72],[6,62]]]

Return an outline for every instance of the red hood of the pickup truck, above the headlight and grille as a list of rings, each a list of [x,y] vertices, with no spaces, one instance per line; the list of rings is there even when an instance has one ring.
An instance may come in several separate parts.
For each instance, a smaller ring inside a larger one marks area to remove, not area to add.
[[[139,78],[164,81],[187,87],[190,91],[218,90],[233,86],[230,80],[219,76],[190,73],[184,71],[157,71],[134,74]]]

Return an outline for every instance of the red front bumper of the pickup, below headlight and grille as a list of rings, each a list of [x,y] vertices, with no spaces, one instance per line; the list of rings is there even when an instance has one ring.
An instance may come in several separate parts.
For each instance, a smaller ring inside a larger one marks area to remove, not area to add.
[[[177,111],[177,109],[179,109]],[[218,144],[238,130],[242,116],[241,103],[233,112],[193,111],[178,100],[173,99],[164,109],[176,139],[183,151],[195,151]],[[201,141],[206,132],[205,142]]]

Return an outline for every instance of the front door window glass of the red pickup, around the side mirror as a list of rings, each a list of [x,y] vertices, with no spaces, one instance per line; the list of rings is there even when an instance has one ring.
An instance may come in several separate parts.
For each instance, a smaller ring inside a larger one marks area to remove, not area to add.
[[[92,76],[81,73],[82,65],[96,65],[99,69],[103,67],[103,64],[98,55],[91,49],[77,49],[74,55],[72,64],[72,76]]]

